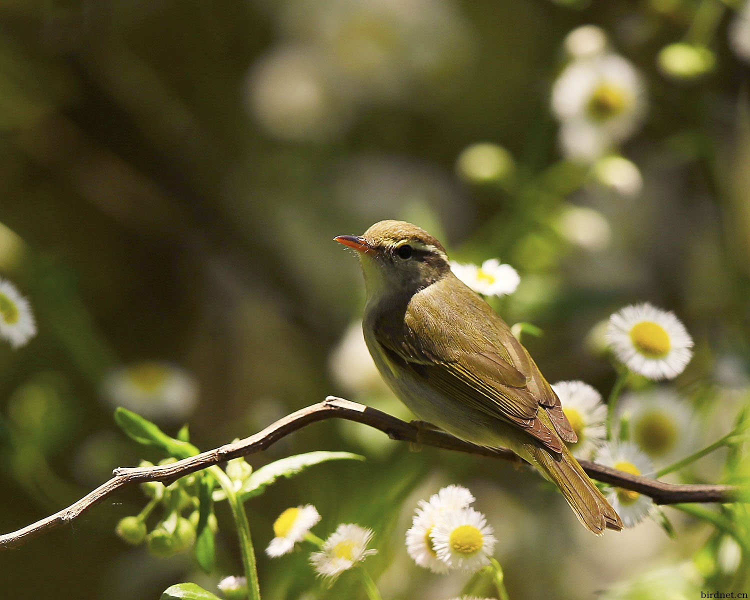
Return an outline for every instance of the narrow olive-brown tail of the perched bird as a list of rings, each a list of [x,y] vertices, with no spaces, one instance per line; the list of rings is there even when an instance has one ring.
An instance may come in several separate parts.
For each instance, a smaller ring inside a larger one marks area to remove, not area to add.
[[[562,445],[562,453],[559,455],[553,455],[534,444],[524,446],[541,472],[559,487],[575,516],[586,529],[596,535],[604,533],[604,529],[622,529],[619,515],[601,495],[565,444]]]

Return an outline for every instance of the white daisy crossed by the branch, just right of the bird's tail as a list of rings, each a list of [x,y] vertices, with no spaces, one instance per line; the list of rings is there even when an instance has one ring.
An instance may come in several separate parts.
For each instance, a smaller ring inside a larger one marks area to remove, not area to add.
[[[654,475],[649,458],[631,442],[607,442],[598,449],[596,462],[631,475]],[[649,496],[622,487],[604,487],[604,496],[615,509],[625,527],[634,527],[654,507]]]

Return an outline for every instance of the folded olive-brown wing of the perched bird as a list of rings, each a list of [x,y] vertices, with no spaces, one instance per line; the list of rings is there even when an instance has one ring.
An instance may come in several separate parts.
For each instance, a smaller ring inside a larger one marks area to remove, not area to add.
[[[381,347],[425,385],[561,452],[559,438],[537,415],[540,396],[535,392],[546,392],[549,384],[486,302],[462,284],[441,289],[447,283],[438,282],[414,296],[400,324],[390,321],[377,327]],[[543,397],[550,403],[546,393]]]

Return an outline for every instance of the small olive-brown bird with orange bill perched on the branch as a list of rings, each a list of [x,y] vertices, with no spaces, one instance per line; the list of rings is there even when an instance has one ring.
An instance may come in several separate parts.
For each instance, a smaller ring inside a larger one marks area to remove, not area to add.
[[[589,531],[622,529],[565,446],[577,437],[559,398],[505,321],[452,273],[443,245],[400,220],[335,240],[358,251],[365,342],[395,395],[461,440],[513,450],[559,487]]]

